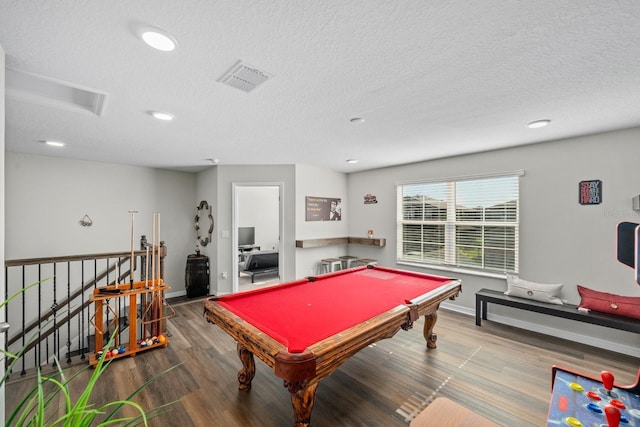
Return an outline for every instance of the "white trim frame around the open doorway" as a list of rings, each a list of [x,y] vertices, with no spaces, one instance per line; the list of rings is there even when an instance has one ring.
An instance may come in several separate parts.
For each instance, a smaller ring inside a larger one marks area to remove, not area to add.
[[[231,193],[233,204],[231,206],[231,250],[233,287],[231,292],[238,292],[238,191],[240,187],[278,187],[278,277],[282,277],[284,266],[282,242],[284,241],[284,182],[232,182]]]

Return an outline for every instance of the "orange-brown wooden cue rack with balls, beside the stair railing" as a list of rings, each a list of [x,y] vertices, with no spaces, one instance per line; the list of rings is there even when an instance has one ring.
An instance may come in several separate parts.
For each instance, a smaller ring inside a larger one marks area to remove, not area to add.
[[[116,302],[118,298],[125,298],[125,302],[128,302],[129,310],[129,342],[124,345],[124,352],[119,352],[117,355],[112,355],[110,359],[117,359],[125,356],[135,356],[140,351],[151,350],[158,347],[166,347],[169,345],[169,338],[165,335],[164,342],[158,342],[151,345],[141,346],[138,339],[149,339],[153,336],[158,336],[162,333],[161,325],[163,321],[169,317],[164,313],[164,299],[162,292],[169,289],[162,279],[144,280],[134,283],[120,283],[117,285],[109,285],[102,288],[96,288],[93,290],[93,295],[90,298],[95,304],[95,313],[91,318],[91,324],[95,330],[95,351],[89,354],[89,364],[95,366],[99,361],[98,352],[103,350],[104,345],[109,341],[110,337],[104,337],[104,335],[110,329],[109,326],[119,325],[120,313],[119,306],[111,307],[111,302]],[[140,299],[140,307],[144,310],[138,317],[138,299]],[[120,302],[120,301],[117,301]],[[126,303],[124,304],[126,306]],[[113,314],[113,320],[107,325],[106,330],[104,328],[104,314],[105,308]],[[126,309],[126,308],[125,308]],[[138,328],[143,331],[143,336],[138,337]],[[119,341],[120,333],[116,334],[113,342],[112,349],[119,348],[121,344]]]

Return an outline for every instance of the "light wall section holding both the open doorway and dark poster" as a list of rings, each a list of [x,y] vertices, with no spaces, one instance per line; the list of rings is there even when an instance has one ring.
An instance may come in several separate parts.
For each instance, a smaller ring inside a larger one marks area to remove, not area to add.
[[[232,248],[231,242],[232,184],[258,182],[284,183],[285,224],[280,241],[284,265],[280,271],[281,281],[318,274],[320,259],[344,255],[349,250],[346,245],[295,248],[295,240],[347,236],[349,209],[346,206],[345,174],[304,165],[215,166],[200,172],[197,177],[197,198],[208,200],[210,205],[211,201],[215,200],[214,242],[202,249],[203,254],[214,260],[211,263],[213,294],[224,295],[232,289],[229,272],[233,268],[232,262],[237,259],[237,251]],[[342,221],[305,221],[305,196],[341,198]],[[227,273],[227,279],[221,277],[222,273]]]

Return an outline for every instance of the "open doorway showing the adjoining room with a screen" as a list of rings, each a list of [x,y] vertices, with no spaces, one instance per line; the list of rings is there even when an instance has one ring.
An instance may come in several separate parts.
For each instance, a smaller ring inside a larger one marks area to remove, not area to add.
[[[280,282],[283,183],[232,183],[233,292]],[[277,259],[277,265],[273,260]],[[237,262],[235,262],[237,260]],[[257,265],[255,262],[265,262]],[[252,283],[253,282],[253,283]],[[242,286],[241,286],[242,283]],[[245,285],[246,284],[246,285]]]

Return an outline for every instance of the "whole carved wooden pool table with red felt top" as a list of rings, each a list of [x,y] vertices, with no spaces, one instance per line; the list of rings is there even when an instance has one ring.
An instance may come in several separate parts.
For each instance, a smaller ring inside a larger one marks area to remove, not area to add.
[[[309,426],[319,381],[360,349],[425,316],[436,347],[437,309],[461,291],[458,279],[379,266],[356,267],[204,302],[204,316],[237,341],[241,390],[250,390],[254,355],[291,394],[295,426]]]

